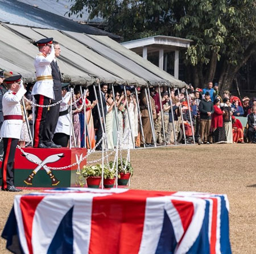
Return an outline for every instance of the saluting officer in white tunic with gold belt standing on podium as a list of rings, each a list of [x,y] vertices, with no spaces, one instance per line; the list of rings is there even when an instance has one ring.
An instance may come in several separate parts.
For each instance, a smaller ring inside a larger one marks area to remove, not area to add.
[[[55,99],[53,93],[53,79],[51,62],[55,58],[55,49],[52,44],[53,38],[44,38],[36,41],[39,54],[36,55],[34,66],[36,69],[36,83],[32,89],[38,105],[49,105],[51,99]],[[34,147],[49,148],[44,141],[44,123],[46,122],[47,107],[36,107]]]

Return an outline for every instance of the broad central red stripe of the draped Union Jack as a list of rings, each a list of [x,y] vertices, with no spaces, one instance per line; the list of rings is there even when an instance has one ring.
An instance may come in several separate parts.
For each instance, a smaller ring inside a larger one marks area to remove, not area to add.
[[[128,190],[94,197],[89,254],[137,254],[142,240],[148,197],[173,192]]]

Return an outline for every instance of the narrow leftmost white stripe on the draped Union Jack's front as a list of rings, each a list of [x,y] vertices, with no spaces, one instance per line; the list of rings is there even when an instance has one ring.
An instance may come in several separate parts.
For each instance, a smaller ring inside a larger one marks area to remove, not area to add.
[[[29,254],[27,240],[24,231],[23,219],[22,219],[22,211],[20,209],[20,198],[22,195],[16,195],[14,198],[14,212],[16,217],[16,222],[18,224],[18,231],[19,231],[19,240],[20,245],[24,251],[24,254]]]

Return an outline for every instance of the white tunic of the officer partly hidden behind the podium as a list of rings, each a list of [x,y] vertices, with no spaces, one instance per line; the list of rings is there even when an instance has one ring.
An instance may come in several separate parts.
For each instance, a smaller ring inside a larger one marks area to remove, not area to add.
[[[71,97],[71,93],[68,91],[65,94],[65,97],[63,97],[63,101],[60,103],[60,112],[68,110],[68,108],[70,107],[70,105],[68,105],[68,102],[70,101],[70,97]],[[70,113],[59,116],[54,133],[64,133],[64,134],[70,135]]]

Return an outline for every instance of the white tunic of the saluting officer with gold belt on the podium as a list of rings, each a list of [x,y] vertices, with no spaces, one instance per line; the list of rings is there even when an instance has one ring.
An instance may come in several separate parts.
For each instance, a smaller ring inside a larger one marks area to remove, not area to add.
[[[43,78],[52,76],[51,63],[55,58],[55,51],[52,50],[48,56],[44,56],[42,53],[36,55],[34,60],[34,66],[36,69],[36,78]],[[55,99],[53,93],[53,80],[46,78],[46,80],[36,81],[32,89],[32,95],[42,94],[50,99]]]

